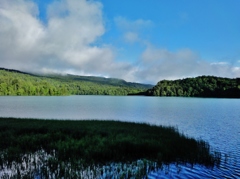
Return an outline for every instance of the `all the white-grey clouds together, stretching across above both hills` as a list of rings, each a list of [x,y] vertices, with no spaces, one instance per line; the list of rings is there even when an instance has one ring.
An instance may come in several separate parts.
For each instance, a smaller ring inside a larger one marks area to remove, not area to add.
[[[115,23],[126,43],[144,43],[145,50],[137,61],[116,61],[114,49],[118,47],[100,43],[106,30],[103,5],[98,1],[54,1],[47,8],[44,23],[33,1],[1,0],[0,67],[101,75],[153,84],[198,75],[240,76],[239,67],[206,62],[190,49],[171,52],[149,45],[141,38],[141,29],[153,27],[150,20],[117,17]]]

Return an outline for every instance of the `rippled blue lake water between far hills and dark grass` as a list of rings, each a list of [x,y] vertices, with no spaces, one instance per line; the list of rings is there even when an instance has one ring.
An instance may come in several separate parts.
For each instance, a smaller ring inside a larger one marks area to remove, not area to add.
[[[2,96],[0,116],[42,119],[104,119],[175,126],[222,152],[219,167],[170,166],[149,178],[239,178],[240,100],[143,96]]]

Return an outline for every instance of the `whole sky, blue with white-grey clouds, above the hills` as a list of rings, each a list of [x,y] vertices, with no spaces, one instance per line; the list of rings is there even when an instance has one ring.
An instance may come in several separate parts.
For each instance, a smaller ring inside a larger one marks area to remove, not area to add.
[[[0,66],[155,84],[240,77],[238,0],[1,0]]]

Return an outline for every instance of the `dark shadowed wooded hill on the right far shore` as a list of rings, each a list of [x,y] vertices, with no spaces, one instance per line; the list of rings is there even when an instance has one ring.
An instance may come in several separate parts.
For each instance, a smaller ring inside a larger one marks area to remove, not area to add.
[[[147,90],[146,95],[240,98],[240,78],[200,76],[173,81],[162,80]]]

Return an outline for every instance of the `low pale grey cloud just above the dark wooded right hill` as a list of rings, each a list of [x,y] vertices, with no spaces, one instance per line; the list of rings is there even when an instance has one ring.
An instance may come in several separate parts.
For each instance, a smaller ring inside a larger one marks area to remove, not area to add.
[[[221,77],[240,76],[240,68],[227,62],[209,63],[190,49],[171,52],[167,49],[149,46],[143,52],[135,76],[149,82],[163,79],[179,79],[200,75]]]

